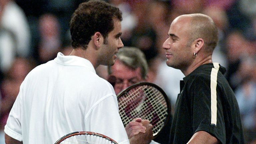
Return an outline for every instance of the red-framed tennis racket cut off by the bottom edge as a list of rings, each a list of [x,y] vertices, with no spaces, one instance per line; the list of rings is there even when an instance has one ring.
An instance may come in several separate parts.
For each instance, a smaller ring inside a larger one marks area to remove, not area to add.
[[[118,144],[116,141],[103,134],[80,131],[72,132],[60,138],[54,144]]]

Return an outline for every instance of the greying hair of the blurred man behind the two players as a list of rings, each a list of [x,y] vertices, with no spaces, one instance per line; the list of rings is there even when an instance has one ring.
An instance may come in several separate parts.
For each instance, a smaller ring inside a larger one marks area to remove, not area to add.
[[[118,50],[117,59],[131,69],[140,68],[141,76],[146,78],[148,73],[148,63],[144,53],[136,47],[123,47]],[[111,66],[108,66],[108,74],[111,74]]]

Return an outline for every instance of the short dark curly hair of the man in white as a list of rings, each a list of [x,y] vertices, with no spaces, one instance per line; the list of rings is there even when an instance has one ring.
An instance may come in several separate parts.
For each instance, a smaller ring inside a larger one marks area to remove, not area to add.
[[[72,47],[86,49],[95,32],[100,32],[105,41],[114,29],[113,18],[122,21],[122,12],[109,3],[100,0],[81,3],[70,21]]]

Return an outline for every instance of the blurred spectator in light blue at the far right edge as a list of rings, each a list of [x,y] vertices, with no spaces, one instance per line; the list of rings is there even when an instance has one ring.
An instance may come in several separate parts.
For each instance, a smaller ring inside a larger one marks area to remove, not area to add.
[[[256,139],[256,59],[245,57],[237,75],[241,79],[235,91],[240,109],[246,143]]]

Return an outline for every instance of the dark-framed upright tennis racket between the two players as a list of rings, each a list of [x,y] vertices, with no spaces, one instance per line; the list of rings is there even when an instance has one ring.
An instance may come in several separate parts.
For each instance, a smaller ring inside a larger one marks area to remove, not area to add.
[[[168,122],[171,115],[170,101],[157,85],[141,82],[132,85],[117,95],[119,114],[126,126],[134,118],[147,119],[153,125],[153,136]]]

